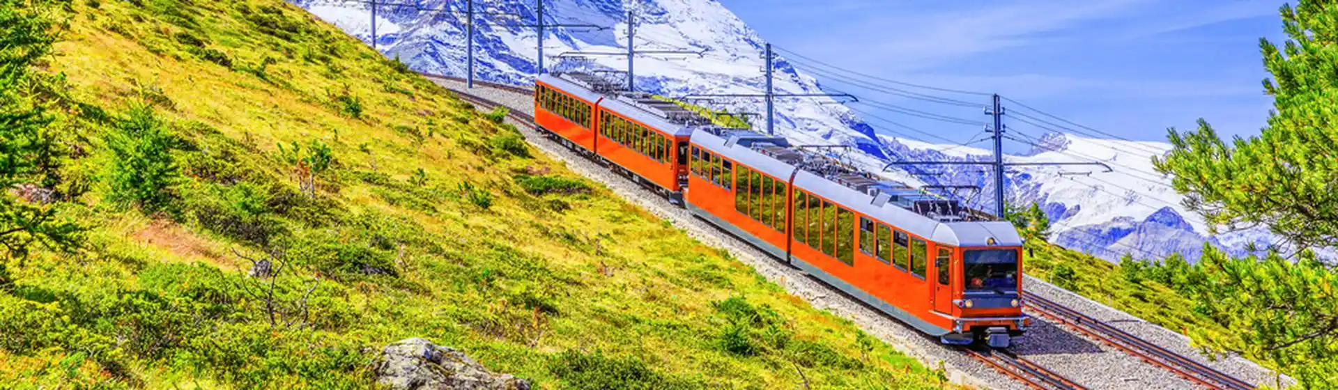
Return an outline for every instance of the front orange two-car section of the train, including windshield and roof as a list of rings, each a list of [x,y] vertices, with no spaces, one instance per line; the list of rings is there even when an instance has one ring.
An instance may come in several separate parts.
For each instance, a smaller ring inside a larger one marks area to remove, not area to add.
[[[694,215],[945,343],[1008,347],[1025,333],[1010,223],[969,220],[954,200],[783,138],[698,130],[690,146]]]

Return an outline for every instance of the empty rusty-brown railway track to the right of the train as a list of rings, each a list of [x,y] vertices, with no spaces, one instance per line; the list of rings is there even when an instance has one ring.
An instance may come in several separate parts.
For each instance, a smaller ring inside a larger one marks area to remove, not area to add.
[[[1250,390],[1255,387],[1235,377],[1147,342],[1121,329],[1090,318],[1077,310],[1054,303],[1054,301],[1028,294],[1026,307],[1045,318],[1066,325],[1093,339],[1143,359],[1149,365],[1165,369],[1208,389]]]

